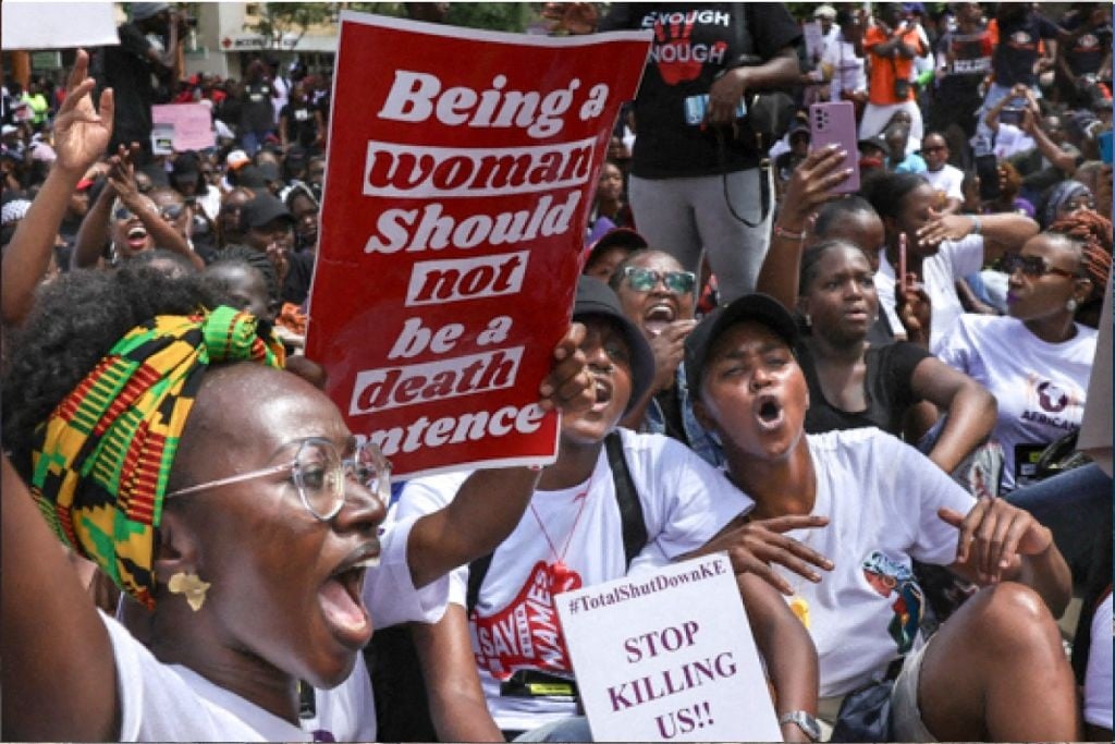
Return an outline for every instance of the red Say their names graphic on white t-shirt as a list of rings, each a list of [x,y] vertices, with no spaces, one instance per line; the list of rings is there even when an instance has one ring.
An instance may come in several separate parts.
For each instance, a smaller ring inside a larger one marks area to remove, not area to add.
[[[576,571],[565,569],[559,573],[555,577],[552,567],[539,561],[505,608],[488,617],[472,613],[477,666],[501,680],[516,669],[573,670],[553,596],[580,589],[582,581]],[[558,581],[561,586],[555,586]]]

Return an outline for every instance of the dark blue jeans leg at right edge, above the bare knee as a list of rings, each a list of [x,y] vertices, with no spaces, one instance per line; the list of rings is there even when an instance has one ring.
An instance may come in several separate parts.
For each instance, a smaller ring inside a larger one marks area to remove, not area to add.
[[[1084,465],[1024,486],[1010,492],[1007,501],[1053,531],[1075,577],[1087,573],[1093,545],[1107,538],[1112,523],[1112,480],[1099,465]]]

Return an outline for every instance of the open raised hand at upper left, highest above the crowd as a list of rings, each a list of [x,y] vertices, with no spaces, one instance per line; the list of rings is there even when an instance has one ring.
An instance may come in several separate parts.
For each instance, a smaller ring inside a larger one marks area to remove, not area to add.
[[[55,167],[80,178],[108,147],[113,136],[115,104],[113,91],[100,94],[99,114],[93,106],[96,80],[88,77],[89,55],[78,49],[74,69],[66,83],[66,100],[55,119]]]

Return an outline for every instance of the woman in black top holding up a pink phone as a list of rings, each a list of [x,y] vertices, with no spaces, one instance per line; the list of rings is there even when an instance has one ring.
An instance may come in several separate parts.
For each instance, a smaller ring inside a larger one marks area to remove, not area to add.
[[[840,163],[837,153],[821,149],[795,172],[758,280],[759,291],[797,308],[804,320],[794,352],[809,387],[805,431],[876,426],[900,435],[908,412],[929,400],[948,413],[929,457],[951,473],[987,438],[995,398],[914,344],[869,340],[879,316],[869,258],[874,245],[836,239],[805,248],[796,238],[813,211],[836,196],[830,189],[838,183]],[[824,228],[838,230],[838,215],[826,215]]]

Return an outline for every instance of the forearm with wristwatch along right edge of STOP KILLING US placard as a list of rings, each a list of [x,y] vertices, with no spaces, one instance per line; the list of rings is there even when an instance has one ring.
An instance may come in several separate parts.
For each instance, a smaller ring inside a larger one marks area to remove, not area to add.
[[[794,711],[816,715],[820,673],[817,649],[808,631],[768,583],[750,574],[740,577],[737,583],[755,645],[774,685],[777,715]],[[787,742],[809,741],[792,723],[783,724],[782,735]]]

